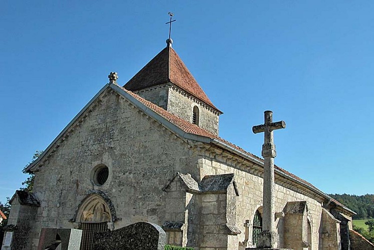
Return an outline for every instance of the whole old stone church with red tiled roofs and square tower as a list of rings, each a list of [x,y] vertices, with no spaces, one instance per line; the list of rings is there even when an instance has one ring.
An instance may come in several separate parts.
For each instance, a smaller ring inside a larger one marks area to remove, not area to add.
[[[12,197],[3,249],[37,249],[43,227],[82,229],[91,249],[94,232],[138,221],[161,225],[169,244],[256,247],[263,159],[219,137],[222,111],[171,40],[125,85],[117,78],[27,168],[34,192]],[[278,166],[274,198],[278,247],[351,249],[354,211]]]

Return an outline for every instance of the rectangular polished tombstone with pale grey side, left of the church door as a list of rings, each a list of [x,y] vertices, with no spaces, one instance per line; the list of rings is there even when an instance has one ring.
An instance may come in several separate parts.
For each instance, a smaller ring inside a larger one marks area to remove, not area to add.
[[[38,250],[76,250],[81,246],[82,230],[42,228]]]

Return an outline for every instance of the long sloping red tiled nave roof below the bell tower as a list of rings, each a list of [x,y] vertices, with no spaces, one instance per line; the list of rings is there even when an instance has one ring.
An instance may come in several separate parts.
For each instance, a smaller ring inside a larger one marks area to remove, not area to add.
[[[164,118],[166,118],[167,120],[169,120],[171,123],[173,123],[174,125],[178,126],[179,128],[181,128],[182,130],[184,130],[185,132],[188,132],[188,133],[193,133],[193,134],[196,134],[196,135],[201,135],[201,136],[205,136],[205,137],[209,137],[211,139],[217,139],[229,146],[232,146],[233,148],[245,153],[245,154],[248,154],[256,159],[258,159],[259,161],[262,161],[263,162],[263,158],[251,153],[251,152],[248,152],[246,150],[244,150],[243,148],[231,143],[230,141],[228,140],[225,140],[221,137],[219,137],[218,135],[215,135],[201,127],[199,127],[198,125],[196,124],[193,124],[187,120],[184,120],[182,118],[180,118],[179,116],[175,115],[175,114],[172,114],[170,113],[169,111],[163,109],[162,107],[144,99],[143,97],[139,96],[138,94],[122,87],[123,90],[125,90],[127,93],[131,94],[133,97],[135,97],[137,100],[139,100],[140,102],[142,102],[143,104],[145,104],[147,107],[151,108],[153,111],[157,112],[158,114],[160,114],[161,116],[163,116]],[[281,168],[277,165],[274,165],[274,167],[278,170],[280,170],[281,172],[297,179],[297,180],[300,180],[301,182],[303,182],[304,184],[307,184],[311,187],[314,187],[316,188],[314,185],[312,185],[311,183],[309,183],[308,181],[298,177],[297,175],[285,170],[284,168]],[[318,189],[318,188],[316,188]],[[318,189],[319,190],[319,189]],[[339,203],[340,204],[340,203]]]

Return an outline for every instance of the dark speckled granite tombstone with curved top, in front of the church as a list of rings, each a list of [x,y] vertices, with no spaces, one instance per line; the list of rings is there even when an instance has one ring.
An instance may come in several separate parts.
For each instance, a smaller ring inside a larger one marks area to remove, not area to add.
[[[149,222],[137,222],[113,231],[95,233],[93,250],[164,250],[165,231]]]

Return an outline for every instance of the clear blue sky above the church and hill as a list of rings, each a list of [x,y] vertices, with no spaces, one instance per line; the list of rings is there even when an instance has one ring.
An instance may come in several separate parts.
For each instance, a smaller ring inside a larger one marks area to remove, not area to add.
[[[49,1],[0,3],[0,201],[117,71],[125,84],[173,47],[224,114],[220,136],[327,193],[374,193],[374,1]]]

